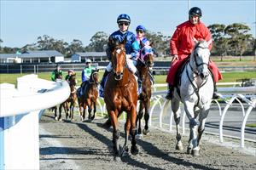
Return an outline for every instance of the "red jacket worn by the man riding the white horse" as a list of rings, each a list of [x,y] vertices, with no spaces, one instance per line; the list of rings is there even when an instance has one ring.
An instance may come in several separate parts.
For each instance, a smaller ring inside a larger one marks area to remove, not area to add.
[[[207,26],[201,21],[197,25],[191,24],[189,20],[183,22],[183,24],[177,26],[172,35],[170,41],[171,54],[191,54],[195,45],[193,37],[196,40],[209,41],[212,35]],[[209,45],[209,49],[212,49],[212,43]]]

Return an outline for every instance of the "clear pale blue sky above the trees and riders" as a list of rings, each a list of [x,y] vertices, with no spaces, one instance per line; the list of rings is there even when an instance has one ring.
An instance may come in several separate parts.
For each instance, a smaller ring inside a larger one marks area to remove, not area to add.
[[[149,31],[172,36],[176,26],[188,20],[189,1],[9,1],[1,2],[0,37],[2,47],[21,48],[48,35],[72,42],[79,39],[84,46],[96,31],[111,34],[118,29],[119,14],[131,16],[130,31],[143,24]],[[243,23],[256,35],[256,0],[199,1],[191,0],[190,7],[200,7],[201,20],[211,24]]]

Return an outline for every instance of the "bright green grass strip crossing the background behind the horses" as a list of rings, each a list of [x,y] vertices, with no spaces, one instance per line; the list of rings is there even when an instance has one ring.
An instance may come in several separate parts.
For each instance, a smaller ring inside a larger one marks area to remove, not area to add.
[[[100,72],[100,78],[102,79],[103,72]],[[0,74],[0,83],[8,82],[16,84],[18,77],[22,77],[28,74]],[[222,73],[223,80],[219,82],[236,82],[237,79],[242,78],[256,78],[256,71],[244,71],[244,72],[224,72]],[[66,74],[64,74],[64,77]],[[39,78],[50,80],[50,72],[44,72],[38,74]],[[81,83],[81,73],[77,72],[78,84]],[[156,83],[166,83],[166,75],[154,76]]]

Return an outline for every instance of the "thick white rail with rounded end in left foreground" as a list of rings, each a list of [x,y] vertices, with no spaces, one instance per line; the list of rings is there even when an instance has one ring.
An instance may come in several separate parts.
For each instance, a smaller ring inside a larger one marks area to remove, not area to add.
[[[38,115],[65,101],[68,83],[27,75],[0,84],[0,169],[39,169]]]

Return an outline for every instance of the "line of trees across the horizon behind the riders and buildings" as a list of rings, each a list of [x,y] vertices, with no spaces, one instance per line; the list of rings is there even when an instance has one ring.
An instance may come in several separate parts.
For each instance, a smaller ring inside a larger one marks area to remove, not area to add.
[[[213,24],[208,26],[212,32],[212,55],[256,55],[256,39],[249,34],[250,28],[241,23],[234,23],[228,26],[223,24]],[[171,36],[164,36],[161,32],[147,31],[146,37],[150,42],[154,42],[154,50],[159,56],[169,56]],[[2,43],[3,40],[0,39]],[[1,54],[11,54],[27,50],[56,50],[65,57],[71,57],[76,52],[102,52],[106,50],[108,34],[104,31],[97,31],[90,38],[90,43],[84,46],[79,39],[73,39],[72,42],[64,42],[48,35],[40,36],[37,42],[26,44],[22,48],[9,48],[0,46]]]

